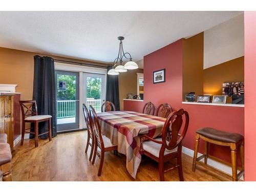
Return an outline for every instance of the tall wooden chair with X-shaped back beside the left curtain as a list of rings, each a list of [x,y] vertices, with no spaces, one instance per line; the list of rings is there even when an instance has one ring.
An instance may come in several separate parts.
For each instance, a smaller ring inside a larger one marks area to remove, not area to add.
[[[22,140],[20,145],[23,145],[25,133],[30,133],[35,135],[35,147],[38,147],[38,137],[40,135],[47,134],[49,135],[49,141],[52,140],[52,116],[51,115],[38,115],[37,114],[37,105],[35,100],[29,101],[19,101],[20,108],[22,109]],[[42,121],[48,121],[48,132],[41,133],[38,135],[38,123]],[[25,129],[25,123],[34,123],[35,132],[28,132]]]

